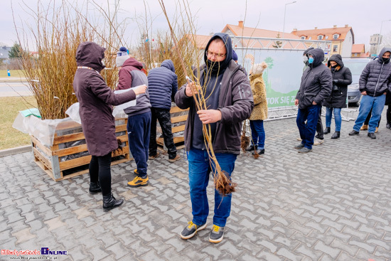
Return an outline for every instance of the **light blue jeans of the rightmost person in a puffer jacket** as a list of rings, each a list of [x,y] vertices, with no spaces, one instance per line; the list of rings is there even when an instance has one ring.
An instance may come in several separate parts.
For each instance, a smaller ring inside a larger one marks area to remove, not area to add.
[[[368,133],[375,133],[377,123],[385,105],[385,95],[373,97],[370,95],[363,95],[360,102],[360,109],[358,110],[358,117],[355,119],[353,129],[360,132],[360,127],[365,122],[370,109],[372,108],[372,117],[369,120]]]

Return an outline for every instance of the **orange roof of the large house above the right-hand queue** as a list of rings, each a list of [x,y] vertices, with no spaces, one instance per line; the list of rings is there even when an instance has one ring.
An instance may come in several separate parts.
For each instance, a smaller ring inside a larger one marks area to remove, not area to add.
[[[351,26],[348,26],[347,24],[344,27],[337,27],[333,26],[333,28],[317,28],[311,29],[311,30],[296,30],[292,31],[296,36],[306,36],[308,39],[309,37],[312,38],[312,40],[318,38],[319,35],[325,36],[322,40],[326,40],[326,36],[328,36],[328,41],[345,41],[346,35],[348,32],[351,31],[353,36],[353,43],[354,43],[354,34],[353,29]],[[337,39],[333,39],[333,35],[338,34]]]

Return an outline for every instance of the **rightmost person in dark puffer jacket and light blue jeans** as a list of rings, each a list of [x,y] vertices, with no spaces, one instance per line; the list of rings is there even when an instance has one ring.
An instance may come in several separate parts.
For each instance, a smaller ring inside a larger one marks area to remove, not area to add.
[[[376,139],[375,129],[385,105],[385,96],[391,92],[391,48],[382,48],[379,58],[370,61],[360,75],[359,89],[361,98],[358,117],[355,119],[350,136],[358,135],[360,127],[372,109],[372,117],[368,123],[368,137]]]

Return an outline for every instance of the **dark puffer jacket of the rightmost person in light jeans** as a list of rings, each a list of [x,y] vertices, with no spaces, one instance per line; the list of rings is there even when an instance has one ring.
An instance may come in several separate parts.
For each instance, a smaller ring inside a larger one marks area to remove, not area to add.
[[[384,92],[391,92],[391,63],[390,59],[385,63],[382,55],[385,52],[391,53],[391,48],[382,48],[379,58],[370,61],[361,73],[360,92],[366,91],[367,95],[380,96]]]

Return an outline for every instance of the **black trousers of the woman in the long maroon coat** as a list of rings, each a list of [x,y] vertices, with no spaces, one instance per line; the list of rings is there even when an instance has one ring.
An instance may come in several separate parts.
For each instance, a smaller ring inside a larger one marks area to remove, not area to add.
[[[102,188],[102,195],[107,196],[112,193],[112,173],[110,164],[112,163],[112,153],[105,156],[92,156],[90,161],[90,182],[99,181]]]

